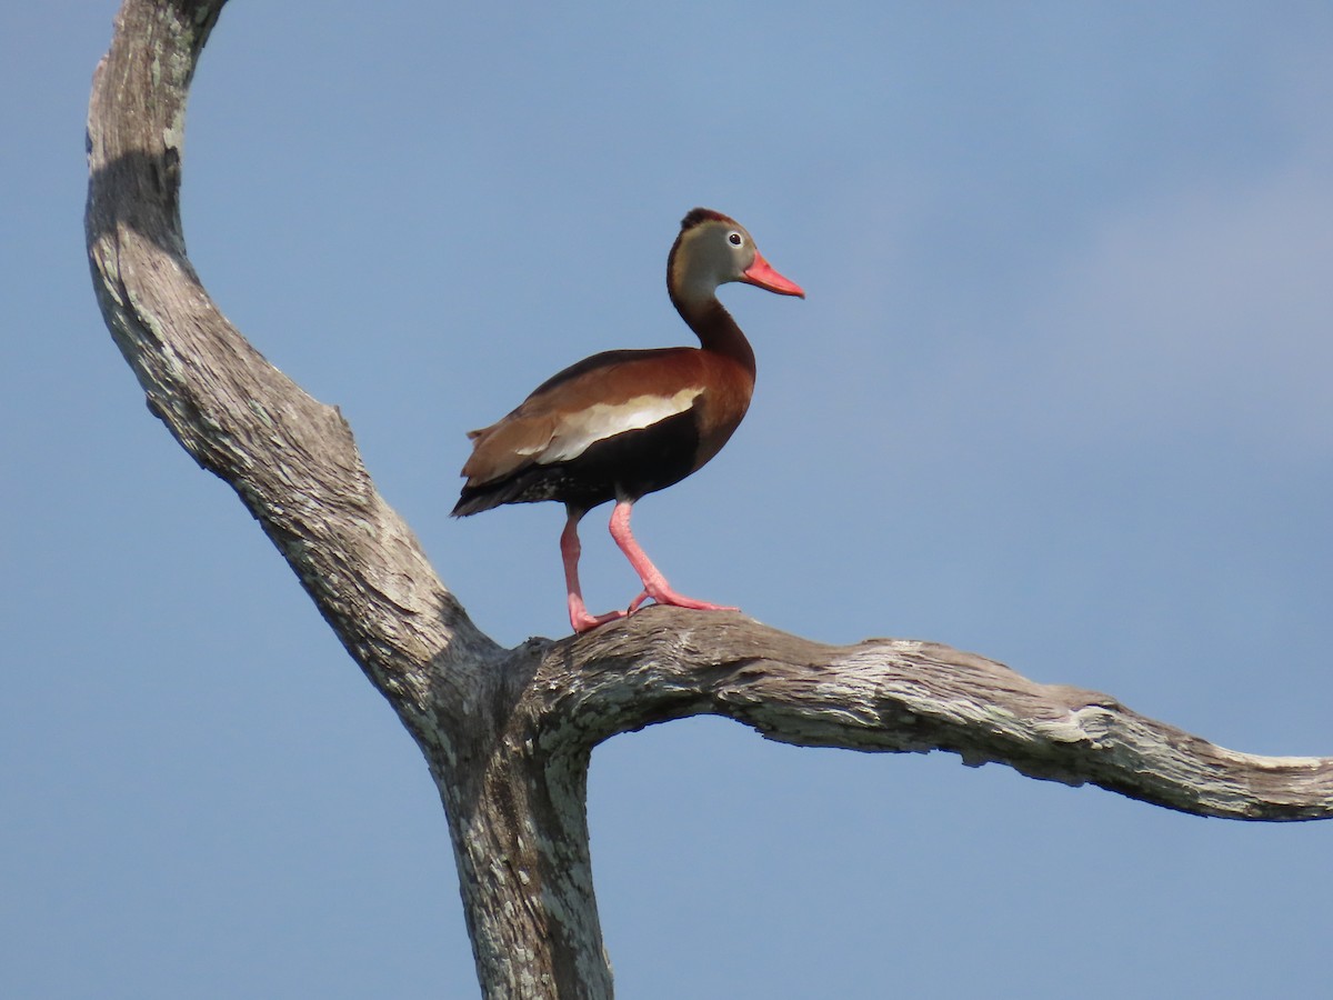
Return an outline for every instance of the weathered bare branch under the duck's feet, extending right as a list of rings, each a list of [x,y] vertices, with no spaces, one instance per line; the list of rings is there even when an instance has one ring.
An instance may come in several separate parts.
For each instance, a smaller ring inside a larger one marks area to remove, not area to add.
[[[801,747],[958,753],[1030,777],[1096,784],[1197,816],[1333,815],[1333,759],[1264,757],[1133,712],[1116,699],[1037,684],[937,643],[829,647],[740,615],[653,609],[599,629],[572,660],[557,644],[536,689],[593,745],[688,715],[722,715]]]

